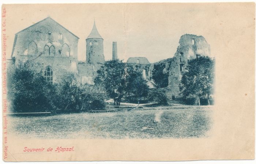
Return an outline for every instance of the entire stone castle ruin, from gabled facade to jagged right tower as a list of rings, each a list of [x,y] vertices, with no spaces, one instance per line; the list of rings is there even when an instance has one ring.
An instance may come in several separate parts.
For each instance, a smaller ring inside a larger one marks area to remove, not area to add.
[[[93,29],[86,38],[86,61],[78,61],[78,36],[68,31],[51,17],[47,17],[15,34],[11,58],[14,65],[29,63],[31,69],[42,72],[50,83],[58,83],[68,72],[78,74],[82,84],[93,85],[97,70],[105,63],[103,38],[99,34],[95,21]],[[185,34],[179,41],[173,58],[156,63],[148,62],[144,57],[132,57],[127,60],[138,71],[150,88],[155,87],[153,72],[161,66],[165,75],[166,93],[169,98],[180,94],[180,81],[189,59],[210,55],[210,45],[203,36]],[[118,59],[117,42],[113,42],[112,60]]]

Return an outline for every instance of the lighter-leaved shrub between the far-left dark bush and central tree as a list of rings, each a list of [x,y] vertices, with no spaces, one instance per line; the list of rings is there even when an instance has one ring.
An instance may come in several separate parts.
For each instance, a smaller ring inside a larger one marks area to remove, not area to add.
[[[103,109],[103,91],[96,86],[80,85],[74,73],[67,74],[58,89],[59,104],[63,112],[81,112]]]

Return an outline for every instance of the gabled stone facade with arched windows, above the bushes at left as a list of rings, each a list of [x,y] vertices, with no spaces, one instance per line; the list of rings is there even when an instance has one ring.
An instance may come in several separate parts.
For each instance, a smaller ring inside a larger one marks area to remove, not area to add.
[[[53,82],[60,82],[69,72],[76,73],[78,37],[52,18],[25,28],[15,35],[12,57],[15,64],[27,63],[30,69],[53,71]]]

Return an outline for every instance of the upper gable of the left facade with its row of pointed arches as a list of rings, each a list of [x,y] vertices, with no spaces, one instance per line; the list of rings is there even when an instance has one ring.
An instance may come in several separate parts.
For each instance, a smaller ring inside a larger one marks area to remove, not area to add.
[[[78,39],[77,36],[52,18],[47,17],[15,35],[12,57],[42,54],[44,56],[72,56],[77,58]],[[49,54],[46,48],[50,47],[52,47],[52,51]]]

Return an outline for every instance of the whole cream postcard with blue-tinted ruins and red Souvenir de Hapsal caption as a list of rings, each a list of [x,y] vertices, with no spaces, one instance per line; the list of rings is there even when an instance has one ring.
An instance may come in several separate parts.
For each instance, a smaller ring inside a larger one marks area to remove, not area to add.
[[[252,6],[3,5],[4,159],[44,161],[52,148],[53,161],[200,160],[228,150],[220,141],[254,136],[236,129],[253,125],[241,125],[253,116],[254,73],[243,62],[254,61]],[[238,55],[238,43],[250,53]],[[168,153],[186,147],[201,154]]]

